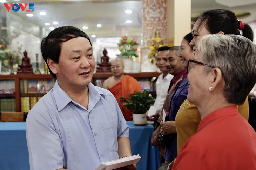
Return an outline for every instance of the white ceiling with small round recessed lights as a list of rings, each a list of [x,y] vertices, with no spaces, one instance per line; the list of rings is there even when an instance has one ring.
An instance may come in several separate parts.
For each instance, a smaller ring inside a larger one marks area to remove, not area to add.
[[[35,10],[32,12],[34,17],[26,17],[27,13],[21,10],[10,11],[8,14],[19,15],[35,25],[45,27],[47,31],[49,31],[49,26],[44,26],[45,22],[55,27],[73,25],[82,29],[83,26],[87,26],[88,29],[84,31],[89,36],[94,34],[96,37],[119,37],[127,31],[133,32],[133,35],[140,35],[142,31],[141,0],[7,0],[7,3],[20,2],[35,3]],[[251,15],[247,17],[240,17],[245,23],[256,20],[256,0],[191,0],[191,16],[196,16],[206,9],[217,8],[232,10],[237,15],[243,12],[250,13]],[[132,14],[124,13],[126,9],[132,10]],[[41,11],[45,11],[47,15],[40,16]],[[132,23],[127,24],[126,20],[132,20]],[[53,21],[58,21],[59,25],[53,25]],[[101,24],[102,27],[97,28],[96,24]]]

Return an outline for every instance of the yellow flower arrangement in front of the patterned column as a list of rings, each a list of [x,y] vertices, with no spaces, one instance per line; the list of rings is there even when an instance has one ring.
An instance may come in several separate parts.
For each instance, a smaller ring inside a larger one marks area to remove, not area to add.
[[[148,58],[150,59],[150,62],[152,62],[152,63],[155,62],[158,49],[162,46],[169,46],[168,44],[164,44],[166,39],[164,37],[160,37],[159,34],[160,34],[159,30],[156,30],[156,32],[155,32],[156,38],[155,37],[151,38],[152,44],[150,44],[148,46],[148,48],[150,50],[150,53],[148,53]]]

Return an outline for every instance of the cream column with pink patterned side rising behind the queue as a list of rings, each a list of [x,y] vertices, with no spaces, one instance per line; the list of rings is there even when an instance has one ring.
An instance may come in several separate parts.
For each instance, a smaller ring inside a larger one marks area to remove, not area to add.
[[[142,0],[143,46],[159,30],[165,43],[180,46],[182,38],[191,31],[191,0]]]

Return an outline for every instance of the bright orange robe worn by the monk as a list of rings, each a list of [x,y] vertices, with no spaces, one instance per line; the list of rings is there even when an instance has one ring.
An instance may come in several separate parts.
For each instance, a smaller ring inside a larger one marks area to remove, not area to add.
[[[136,93],[137,91],[142,92],[142,89],[138,81],[129,75],[124,75],[123,79],[117,82],[115,86],[109,89],[109,91],[115,96],[125,120],[126,121],[133,120],[132,110],[130,109],[123,110],[124,102],[120,103],[119,101],[120,101],[120,96],[129,98],[130,94]]]

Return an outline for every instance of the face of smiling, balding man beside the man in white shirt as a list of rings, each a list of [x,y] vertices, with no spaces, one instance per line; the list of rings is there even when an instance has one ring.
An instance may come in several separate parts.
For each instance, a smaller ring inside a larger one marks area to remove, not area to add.
[[[180,57],[178,57],[175,52],[175,50],[168,50],[164,59],[168,72],[174,76],[184,69]]]

